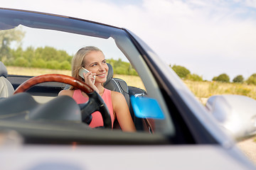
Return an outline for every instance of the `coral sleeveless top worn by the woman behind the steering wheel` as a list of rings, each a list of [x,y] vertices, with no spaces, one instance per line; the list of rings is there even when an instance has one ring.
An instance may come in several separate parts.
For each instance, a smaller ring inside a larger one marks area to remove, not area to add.
[[[82,96],[82,91],[80,91],[79,89],[74,91],[73,98],[76,101],[76,103],[78,103],[78,104],[85,103],[89,100],[89,98]],[[111,99],[111,91],[108,89],[104,89],[104,92],[102,94],[102,99],[103,99],[103,101],[105,101],[107,108],[110,111],[110,117],[111,117],[112,128],[113,128],[114,114],[113,114],[113,106],[112,106],[112,99]],[[102,115],[100,114],[99,111],[92,113],[92,121],[89,126],[90,126],[90,128],[103,126]]]

